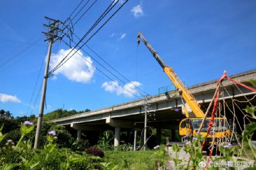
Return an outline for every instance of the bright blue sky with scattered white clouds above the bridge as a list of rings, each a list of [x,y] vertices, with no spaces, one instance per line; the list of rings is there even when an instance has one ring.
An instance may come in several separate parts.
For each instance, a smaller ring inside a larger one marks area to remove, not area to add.
[[[13,116],[38,115],[38,93],[41,93],[43,59],[47,52],[45,36],[41,33],[47,31],[43,26],[47,24],[44,16],[65,21],[80,2],[0,1],[0,109],[9,110]],[[88,4],[92,3],[91,0]],[[74,33],[81,38],[110,3],[111,0],[98,0],[77,22]],[[78,51],[96,68],[77,55],[67,61],[48,81],[45,113],[58,108],[81,111],[109,107],[145,95],[142,91],[141,95],[134,93],[134,86],[157,95],[160,87],[172,84],[145,45],[141,43],[137,47],[136,35],[140,31],[186,86],[218,79],[223,70],[227,70],[228,75],[253,70],[255,8],[256,1],[129,0],[87,45],[131,82],[84,47],[125,84],[83,51]],[[65,43],[54,43],[51,68],[68,50]]]

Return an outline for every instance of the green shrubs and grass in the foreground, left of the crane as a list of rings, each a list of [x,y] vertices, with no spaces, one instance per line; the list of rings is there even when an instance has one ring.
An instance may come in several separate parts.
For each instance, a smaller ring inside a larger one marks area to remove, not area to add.
[[[0,131],[2,130],[3,125]],[[106,151],[105,157],[99,157],[97,148],[95,148],[94,154],[81,151],[74,146],[76,143],[72,144],[73,148],[64,148],[61,147],[61,143],[58,144],[56,130],[49,130],[46,135],[47,142],[43,148],[36,150],[31,143],[32,138],[28,139],[33,130],[33,123],[24,121],[20,127],[19,141],[15,144],[8,139],[5,140],[4,145],[4,139],[10,135],[0,132],[1,169],[156,169],[156,162],[161,159],[157,156],[156,151],[150,150],[118,151],[116,148],[115,151]],[[57,132],[63,135],[60,128]],[[25,138],[28,140],[24,140]],[[63,143],[62,145],[64,146]],[[168,157],[167,154],[163,156],[164,160]]]

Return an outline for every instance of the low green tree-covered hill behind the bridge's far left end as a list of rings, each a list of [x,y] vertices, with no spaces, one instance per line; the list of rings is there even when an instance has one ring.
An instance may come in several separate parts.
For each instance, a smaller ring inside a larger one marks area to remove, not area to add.
[[[71,110],[71,111],[67,111],[67,110],[62,110],[62,109],[57,109],[55,111],[49,112],[47,114],[44,114],[44,120],[54,120],[54,119],[58,119],[58,118],[64,118],[67,116],[72,116],[74,114],[79,114],[82,112],[90,112],[90,109],[85,109],[84,111],[76,111],[76,110]]]

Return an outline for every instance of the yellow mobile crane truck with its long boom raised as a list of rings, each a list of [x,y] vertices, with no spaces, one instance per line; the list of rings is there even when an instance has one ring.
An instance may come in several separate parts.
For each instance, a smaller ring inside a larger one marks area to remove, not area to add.
[[[150,50],[154,58],[157,60],[159,65],[163,68],[163,71],[166,73],[166,75],[170,78],[172,83],[174,84],[175,88],[177,88],[177,91],[179,92],[180,96],[184,98],[186,103],[189,105],[191,110],[193,111],[188,112],[185,105],[184,105],[184,112],[186,114],[186,119],[180,121],[180,128],[179,133],[180,135],[195,135],[196,130],[200,127],[200,124],[202,123],[202,120],[205,116],[204,112],[200,108],[200,105],[196,101],[196,99],[193,97],[193,95],[189,92],[189,90],[186,88],[186,86],[183,84],[182,81],[180,81],[179,77],[174,72],[173,68],[170,66],[167,66],[164,61],[160,58],[159,54],[151,47],[150,43],[147,42],[145,37],[138,33],[138,38],[140,38],[143,43],[147,46],[147,48]],[[140,44],[140,39],[138,39],[138,44]],[[204,122],[204,128],[202,128],[200,134],[204,137],[207,137],[209,139],[214,138],[220,138],[220,137],[227,137],[230,136],[230,130],[228,127],[227,119],[226,118],[216,118],[214,120],[214,123],[216,125],[219,125],[219,127],[216,130],[212,130],[210,134],[207,135],[207,128],[208,128],[209,118],[205,120]],[[185,124],[185,125],[184,125]]]

